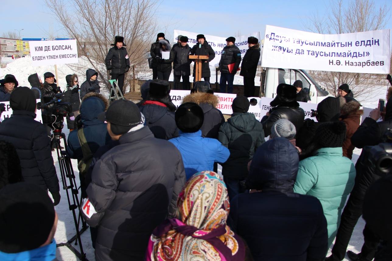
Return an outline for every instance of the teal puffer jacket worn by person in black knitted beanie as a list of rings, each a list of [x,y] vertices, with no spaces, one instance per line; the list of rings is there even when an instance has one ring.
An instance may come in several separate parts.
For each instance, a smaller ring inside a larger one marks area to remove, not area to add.
[[[355,174],[354,164],[343,157],[341,147],[319,149],[316,156],[299,162],[294,192],[314,196],[321,202],[327,219],[328,246],[336,236]]]

